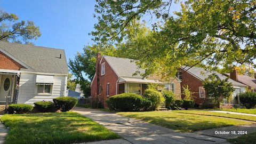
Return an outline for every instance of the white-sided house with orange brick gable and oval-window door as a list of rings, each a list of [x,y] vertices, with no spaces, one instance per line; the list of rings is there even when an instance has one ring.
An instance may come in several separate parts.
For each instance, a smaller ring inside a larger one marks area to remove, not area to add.
[[[68,66],[64,50],[0,42],[0,59],[10,65],[0,62],[0,103],[33,105],[66,96]],[[13,86],[7,89],[10,84]]]

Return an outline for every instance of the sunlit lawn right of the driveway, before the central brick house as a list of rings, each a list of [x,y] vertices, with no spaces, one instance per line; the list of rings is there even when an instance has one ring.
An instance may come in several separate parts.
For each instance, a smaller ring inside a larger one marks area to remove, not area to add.
[[[239,119],[181,114],[172,111],[120,112],[117,114],[168,127],[177,130],[178,132],[191,132],[230,125],[252,124],[252,122],[246,122]]]

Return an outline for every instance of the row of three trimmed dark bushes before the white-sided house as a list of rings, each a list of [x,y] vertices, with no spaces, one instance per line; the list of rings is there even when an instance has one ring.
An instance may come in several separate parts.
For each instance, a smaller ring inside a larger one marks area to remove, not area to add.
[[[77,99],[72,97],[58,97],[50,101],[35,102],[35,108],[41,112],[54,112],[58,109],[65,112],[71,110],[77,104]],[[26,104],[11,104],[8,108],[9,114],[26,114],[33,110],[33,106]]]

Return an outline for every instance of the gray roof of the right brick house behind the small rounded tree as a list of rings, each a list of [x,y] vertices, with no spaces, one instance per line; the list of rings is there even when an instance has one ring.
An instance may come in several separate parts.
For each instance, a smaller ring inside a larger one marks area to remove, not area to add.
[[[183,69],[187,70],[188,73],[196,76],[197,78],[201,79],[202,81],[207,78],[209,75],[215,73],[221,80],[226,79],[227,77],[225,75],[222,75],[220,73],[218,73],[217,71],[206,71],[203,68],[199,68],[199,67],[182,67]],[[244,86],[246,87],[246,85],[236,82],[233,79],[228,79],[228,82],[232,83],[234,86]]]

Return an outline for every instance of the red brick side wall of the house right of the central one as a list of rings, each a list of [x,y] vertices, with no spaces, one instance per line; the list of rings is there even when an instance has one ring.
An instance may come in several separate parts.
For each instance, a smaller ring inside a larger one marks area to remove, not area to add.
[[[187,71],[180,69],[182,73],[182,81],[181,81],[181,87],[188,85],[191,92],[194,92],[193,96],[195,97],[195,103],[201,104],[203,102],[207,102],[206,98],[199,98],[199,86],[203,86],[202,81],[195,77],[194,75],[191,75]],[[181,93],[183,93],[183,90],[181,88]],[[181,97],[184,98],[185,96],[181,94]]]

